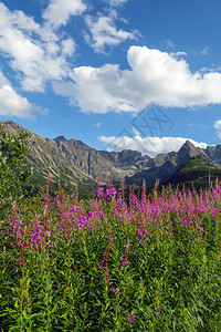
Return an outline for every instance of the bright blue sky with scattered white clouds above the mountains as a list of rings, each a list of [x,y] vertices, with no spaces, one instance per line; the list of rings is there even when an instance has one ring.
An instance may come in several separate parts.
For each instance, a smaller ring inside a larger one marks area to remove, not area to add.
[[[221,144],[220,0],[0,1],[0,120],[151,157]]]

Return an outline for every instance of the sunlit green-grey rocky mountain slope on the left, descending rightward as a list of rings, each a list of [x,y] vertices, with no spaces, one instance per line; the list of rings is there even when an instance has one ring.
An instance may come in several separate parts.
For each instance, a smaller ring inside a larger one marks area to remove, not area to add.
[[[0,124],[11,134],[24,131],[12,121],[1,121]],[[42,138],[33,132],[30,132],[30,137],[31,152],[28,162],[34,168],[36,180],[45,179],[49,172],[53,181],[73,185],[94,181],[96,178],[105,183],[106,176],[119,181],[123,176],[129,174],[116,168],[99,152],[81,141],[65,139],[64,136],[55,139]]]

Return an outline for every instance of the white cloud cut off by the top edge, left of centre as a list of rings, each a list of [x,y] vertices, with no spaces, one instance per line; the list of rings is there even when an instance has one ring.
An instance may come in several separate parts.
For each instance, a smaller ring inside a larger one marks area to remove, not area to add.
[[[45,19],[54,28],[66,25],[71,15],[78,15],[86,10],[82,0],[51,0],[43,12]]]

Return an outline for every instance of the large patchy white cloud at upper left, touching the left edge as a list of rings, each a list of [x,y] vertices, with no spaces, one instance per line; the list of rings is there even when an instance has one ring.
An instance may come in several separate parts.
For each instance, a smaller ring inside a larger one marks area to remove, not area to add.
[[[25,91],[44,92],[49,80],[62,80],[70,72],[67,58],[75,51],[72,38],[55,34],[21,11],[0,3],[0,51],[20,73]]]

